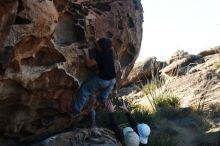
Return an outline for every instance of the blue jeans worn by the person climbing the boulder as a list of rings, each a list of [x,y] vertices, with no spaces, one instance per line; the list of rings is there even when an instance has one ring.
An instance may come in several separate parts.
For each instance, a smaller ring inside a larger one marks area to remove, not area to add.
[[[111,80],[103,80],[98,76],[95,76],[87,81],[85,81],[80,90],[77,98],[72,103],[72,108],[76,113],[80,113],[86,104],[89,96],[93,96],[96,91],[99,89],[103,89],[102,94],[97,99],[101,103],[105,103],[105,101],[108,99],[109,94],[111,93],[114,85],[116,83],[116,79]],[[95,98],[95,97],[94,97]]]

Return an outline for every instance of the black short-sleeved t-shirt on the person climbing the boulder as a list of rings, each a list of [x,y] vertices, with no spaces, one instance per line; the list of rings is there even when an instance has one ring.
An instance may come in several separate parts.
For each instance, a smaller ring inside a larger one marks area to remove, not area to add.
[[[111,80],[116,77],[115,62],[113,50],[98,51],[92,49],[89,51],[90,58],[94,58],[97,62],[99,77],[103,80]]]

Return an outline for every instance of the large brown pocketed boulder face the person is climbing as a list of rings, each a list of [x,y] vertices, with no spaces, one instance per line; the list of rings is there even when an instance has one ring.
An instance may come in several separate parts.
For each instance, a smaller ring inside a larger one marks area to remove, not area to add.
[[[139,0],[0,1],[2,135],[32,141],[76,126],[81,117],[63,110],[94,74],[76,49],[112,39],[120,84],[139,54],[142,13]]]

